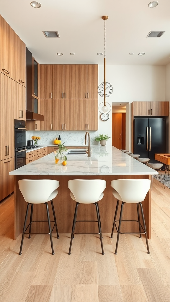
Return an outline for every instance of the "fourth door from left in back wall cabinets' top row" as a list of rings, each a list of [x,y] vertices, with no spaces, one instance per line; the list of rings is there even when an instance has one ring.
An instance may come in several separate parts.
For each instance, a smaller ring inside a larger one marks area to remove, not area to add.
[[[76,99],[87,99],[87,65],[76,65]]]

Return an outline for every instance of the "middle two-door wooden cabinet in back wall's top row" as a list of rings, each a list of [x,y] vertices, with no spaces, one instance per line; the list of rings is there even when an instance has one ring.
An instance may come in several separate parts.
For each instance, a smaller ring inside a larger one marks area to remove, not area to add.
[[[53,99],[76,98],[76,65],[53,65]]]

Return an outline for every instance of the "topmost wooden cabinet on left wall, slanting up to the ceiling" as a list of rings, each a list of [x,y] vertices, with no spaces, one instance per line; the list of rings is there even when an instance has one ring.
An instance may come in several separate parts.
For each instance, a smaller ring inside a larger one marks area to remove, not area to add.
[[[0,72],[25,86],[25,44],[0,15]]]

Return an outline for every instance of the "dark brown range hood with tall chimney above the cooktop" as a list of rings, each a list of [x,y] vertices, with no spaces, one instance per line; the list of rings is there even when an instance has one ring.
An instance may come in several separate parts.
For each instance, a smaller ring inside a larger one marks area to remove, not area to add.
[[[26,47],[26,120],[44,120],[44,115],[34,112],[32,96],[32,53]]]

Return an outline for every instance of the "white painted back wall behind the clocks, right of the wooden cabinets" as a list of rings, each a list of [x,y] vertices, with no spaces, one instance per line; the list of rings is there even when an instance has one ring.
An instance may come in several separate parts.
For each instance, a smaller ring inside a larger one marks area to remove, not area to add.
[[[99,66],[99,84],[104,81],[104,68]],[[113,86],[113,93],[106,98],[113,102],[165,101],[165,66],[107,66],[106,82]],[[99,96],[99,104],[104,101]],[[131,105],[126,105],[126,149],[131,146]],[[99,132],[112,134],[112,114],[103,122],[99,114]],[[111,144],[111,139],[109,140]]]

